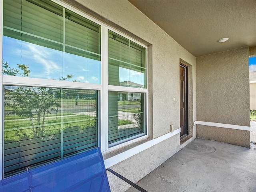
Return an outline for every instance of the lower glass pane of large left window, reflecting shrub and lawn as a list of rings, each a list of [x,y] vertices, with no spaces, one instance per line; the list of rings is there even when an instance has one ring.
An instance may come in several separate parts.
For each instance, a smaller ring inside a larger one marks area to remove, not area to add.
[[[95,90],[4,86],[4,177],[97,146]]]

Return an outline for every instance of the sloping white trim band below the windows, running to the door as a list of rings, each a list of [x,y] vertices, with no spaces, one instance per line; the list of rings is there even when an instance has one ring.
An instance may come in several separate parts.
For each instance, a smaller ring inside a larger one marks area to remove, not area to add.
[[[140,153],[140,152],[142,152],[142,151],[144,151],[144,150],[146,150],[146,149],[148,149],[148,148],[150,148],[150,147],[152,147],[152,146],[154,146],[154,145],[156,145],[156,144],[158,144],[176,134],[179,134],[179,133],[180,133],[180,128],[174,130],[174,132],[164,134],[158,138],[155,138],[148,142],[140,144],[140,145],[138,145],[132,149],[129,149],[125,152],[122,152],[116,156],[110,157],[110,158],[104,160],[105,167],[109,168],[115,164],[118,164],[119,162],[122,162],[123,160],[126,160],[126,159],[130,158],[131,156],[134,156],[134,155],[136,155],[136,154],[138,154],[138,153]]]

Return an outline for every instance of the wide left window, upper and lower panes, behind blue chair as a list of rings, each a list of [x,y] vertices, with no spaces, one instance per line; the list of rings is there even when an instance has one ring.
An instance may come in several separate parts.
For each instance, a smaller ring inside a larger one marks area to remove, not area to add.
[[[100,25],[52,1],[4,0],[3,6],[3,74],[18,84],[3,84],[8,177],[98,146],[93,89],[101,83],[101,55]],[[74,83],[56,88],[45,79]],[[86,84],[92,90],[81,88]]]

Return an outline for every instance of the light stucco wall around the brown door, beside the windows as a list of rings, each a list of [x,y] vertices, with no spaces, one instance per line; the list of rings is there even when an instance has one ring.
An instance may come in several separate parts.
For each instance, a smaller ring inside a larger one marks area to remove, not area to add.
[[[149,20],[128,1],[64,1],[95,18],[115,27],[137,40],[148,42],[148,134],[150,139],[158,138],[180,128],[179,64],[180,58],[193,68],[192,82],[196,83],[196,58],[175,42],[168,34]],[[196,101],[193,86],[193,101]],[[176,101],[174,101],[176,98]],[[194,109],[194,118],[196,117]],[[194,126],[195,127],[195,126]],[[194,139],[194,138],[192,138]],[[192,140],[190,139],[190,141]],[[188,141],[188,142],[190,142]],[[188,144],[186,142],[185,144]],[[122,162],[111,166],[129,180],[138,182],[165,160],[174,155],[180,146],[180,134],[176,134],[155,146],[148,148]],[[108,156],[108,154],[104,154]],[[113,192],[128,189],[118,178],[109,175]]]

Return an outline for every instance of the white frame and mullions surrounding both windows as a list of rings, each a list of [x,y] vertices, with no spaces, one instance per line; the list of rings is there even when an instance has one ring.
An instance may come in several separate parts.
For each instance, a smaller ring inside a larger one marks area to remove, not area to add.
[[[80,10],[61,2],[60,0],[51,0],[63,6],[64,8],[95,22],[96,24],[100,25],[101,27],[101,84],[89,84],[89,83],[81,83],[81,82],[68,82],[68,81],[59,81],[59,80],[48,80],[48,79],[39,79],[39,78],[27,78],[27,77],[20,77],[20,76],[8,76],[2,74],[2,65],[0,67],[0,95],[2,95],[2,101],[0,102],[0,121],[2,126],[0,126],[0,180],[3,179],[4,175],[4,93],[3,93],[3,86],[4,85],[16,85],[16,86],[42,86],[42,87],[53,87],[53,88],[77,88],[77,89],[89,89],[89,90],[98,90],[100,92],[100,100],[98,100],[99,104],[99,111],[98,117],[100,118],[100,124],[98,125],[98,138],[99,142],[98,145],[101,148],[103,153],[109,152],[111,150],[115,150],[122,146],[126,146],[138,140],[148,137],[148,48],[144,44],[138,42],[137,40],[123,34],[122,32],[103,24],[102,22],[88,16],[87,14],[81,12]],[[3,46],[3,0],[0,0],[0,60],[2,61],[2,46]],[[146,48],[146,88],[132,88],[132,87],[122,87],[122,86],[112,86],[108,85],[108,30],[111,30],[121,36],[139,44],[140,46]],[[145,101],[145,125],[144,131],[145,133],[143,136],[138,138],[129,140],[127,142],[118,144],[113,147],[108,147],[108,91],[122,91],[122,92],[140,92],[146,95]]]

